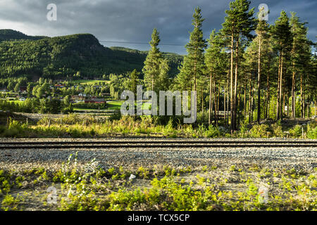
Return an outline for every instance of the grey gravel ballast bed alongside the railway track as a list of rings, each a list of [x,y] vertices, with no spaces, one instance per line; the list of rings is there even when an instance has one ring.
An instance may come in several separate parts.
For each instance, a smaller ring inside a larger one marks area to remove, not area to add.
[[[120,141],[123,139],[1,139],[6,141]],[[125,141],[151,141],[158,139],[124,139]],[[166,139],[171,141],[172,139]],[[175,140],[175,139],[173,139]],[[176,139],[182,140],[182,139]],[[186,139],[188,141],[188,139]],[[232,141],[235,139],[193,139],[212,141]],[[241,141],[242,139],[237,139]],[[247,141],[269,141],[270,139],[243,139]],[[278,140],[278,139],[271,139]],[[283,139],[285,140],[285,139]],[[294,141],[294,139],[292,139]],[[286,140],[285,140],[286,141]],[[14,149],[0,151],[0,169],[31,169],[34,167],[46,167],[58,169],[66,162],[70,154],[78,152],[77,161],[85,164],[96,159],[104,168],[128,166],[128,167],[153,167],[154,165],[170,165],[173,167],[199,167],[212,166],[228,167],[230,165],[261,165],[279,169],[298,168],[311,170],[317,166],[317,148],[268,148],[259,146],[256,148],[70,148],[70,149]]]

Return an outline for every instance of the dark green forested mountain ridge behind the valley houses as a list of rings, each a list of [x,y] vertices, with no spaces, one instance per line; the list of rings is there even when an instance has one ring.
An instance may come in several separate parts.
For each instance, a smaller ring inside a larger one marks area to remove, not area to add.
[[[170,75],[178,73],[182,56],[165,53]],[[0,76],[65,79],[80,75],[94,78],[110,73],[141,71],[147,51],[107,48],[92,34],[63,37],[31,37],[13,30],[0,30]],[[79,73],[78,73],[79,72]]]

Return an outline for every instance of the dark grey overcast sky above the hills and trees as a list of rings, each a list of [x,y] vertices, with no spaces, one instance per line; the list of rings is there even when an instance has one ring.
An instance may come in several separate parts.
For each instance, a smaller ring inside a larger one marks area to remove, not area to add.
[[[99,41],[148,43],[156,27],[161,36],[161,51],[185,54],[184,45],[192,31],[192,14],[199,6],[202,11],[204,37],[219,30],[224,22],[230,0],[0,0],[0,29],[13,29],[28,35],[49,37],[66,34],[91,33]],[[57,20],[46,19],[48,4],[56,4]],[[269,23],[280,11],[297,12],[308,22],[309,39],[316,41],[316,0],[254,0],[251,7],[258,12],[259,4],[267,4]],[[101,42],[105,46],[124,46],[148,50],[148,44],[119,44]]]

